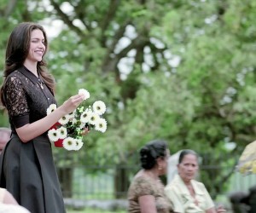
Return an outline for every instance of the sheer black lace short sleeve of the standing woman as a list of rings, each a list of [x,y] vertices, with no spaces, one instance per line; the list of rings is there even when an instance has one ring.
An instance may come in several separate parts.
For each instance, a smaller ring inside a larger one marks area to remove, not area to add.
[[[10,77],[5,83],[5,102],[10,118],[27,115],[29,113],[26,92],[20,78]]]

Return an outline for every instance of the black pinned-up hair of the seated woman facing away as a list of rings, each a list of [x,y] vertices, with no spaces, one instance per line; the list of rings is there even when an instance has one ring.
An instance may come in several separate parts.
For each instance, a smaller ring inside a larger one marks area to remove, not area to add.
[[[141,150],[141,165],[143,169],[150,170],[156,164],[157,158],[166,157],[167,143],[162,140],[148,142]]]

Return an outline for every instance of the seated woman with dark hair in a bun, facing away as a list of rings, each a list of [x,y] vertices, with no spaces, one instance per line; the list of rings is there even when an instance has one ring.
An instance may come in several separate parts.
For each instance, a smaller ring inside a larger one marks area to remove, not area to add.
[[[170,156],[166,141],[151,141],[140,150],[142,170],[134,176],[128,191],[130,213],[172,212],[159,176],[166,174]]]

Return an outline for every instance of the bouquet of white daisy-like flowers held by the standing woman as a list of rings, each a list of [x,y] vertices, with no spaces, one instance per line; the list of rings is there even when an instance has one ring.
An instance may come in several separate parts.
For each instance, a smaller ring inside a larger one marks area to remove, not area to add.
[[[79,89],[79,94],[84,94],[84,100],[90,98],[90,93],[86,89]],[[51,104],[47,109],[47,114],[54,112],[55,104]],[[48,131],[49,141],[55,147],[64,147],[68,151],[78,151],[83,147],[84,128],[94,128],[94,130],[104,133],[107,130],[107,121],[102,118],[106,112],[106,105],[103,101],[95,101],[92,107],[84,107],[80,104],[72,113],[62,117]]]

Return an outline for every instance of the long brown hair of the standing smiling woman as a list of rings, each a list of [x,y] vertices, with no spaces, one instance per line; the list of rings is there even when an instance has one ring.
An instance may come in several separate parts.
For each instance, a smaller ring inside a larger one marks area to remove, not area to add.
[[[44,34],[44,43],[45,43],[44,55],[45,55],[48,49],[48,40],[47,40],[46,32],[44,31],[43,26],[40,26],[32,22],[23,22],[23,23],[20,23],[18,26],[16,26],[13,32],[11,32],[9,36],[9,41],[7,43],[6,54],[5,54],[5,69],[3,72],[4,81],[0,89],[1,101],[4,107],[5,107],[5,101],[3,98],[4,96],[3,86],[5,83],[5,80],[10,73],[15,72],[15,70],[23,66],[24,61],[26,60],[26,57],[29,52],[29,47],[31,43],[31,33],[33,30],[36,30],[36,29],[42,31]],[[50,75],[49,72],[46,70],[46,67],[45,67],[46,62],[44,61],[44,55],[43,55],[43,59],[38,62],[38,65],[37,65],[38,72],[44,79],[44,83],[49,87],[49,89],[51,89],[52,92],[54,92],[55,80],[52,77],[52,75]]]

